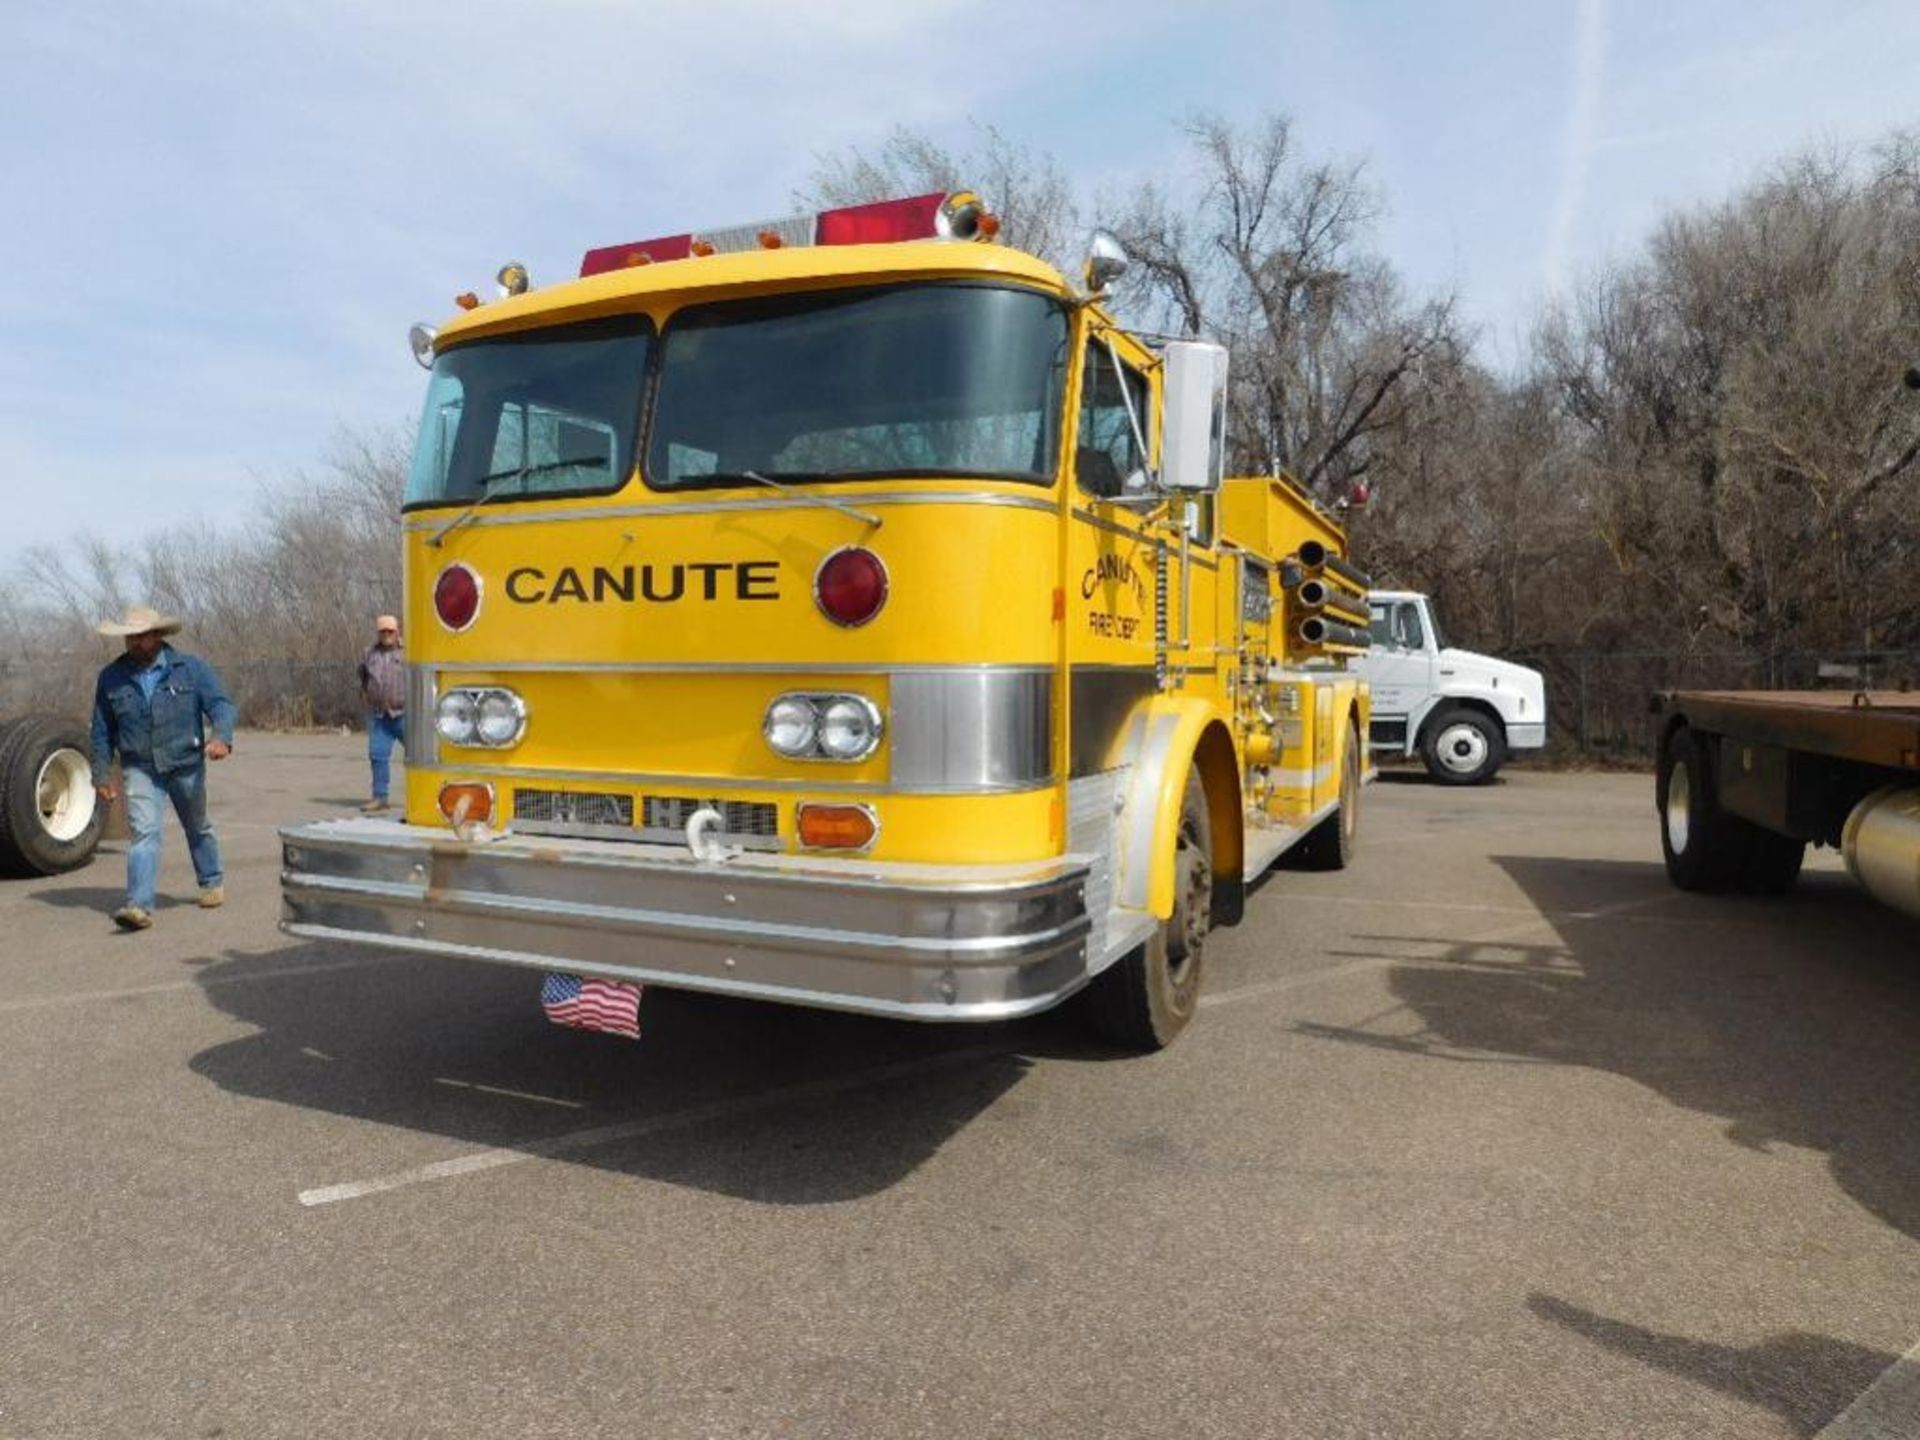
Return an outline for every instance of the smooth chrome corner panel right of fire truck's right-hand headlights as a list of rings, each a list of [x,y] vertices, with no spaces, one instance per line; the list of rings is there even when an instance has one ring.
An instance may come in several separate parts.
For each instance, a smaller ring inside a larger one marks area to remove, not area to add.
[[[902,674],[889,682],[887,701],[899,791],[1010,791],[1052,781],[1050,670]]]

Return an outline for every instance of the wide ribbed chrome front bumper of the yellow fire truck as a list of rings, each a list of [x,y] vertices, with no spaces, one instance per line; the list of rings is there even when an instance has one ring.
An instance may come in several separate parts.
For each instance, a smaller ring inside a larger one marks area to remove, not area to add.
[[[1087,983],[1089,864],[906,866],[330,820],[280,831],[280,929],[904,1020]]]

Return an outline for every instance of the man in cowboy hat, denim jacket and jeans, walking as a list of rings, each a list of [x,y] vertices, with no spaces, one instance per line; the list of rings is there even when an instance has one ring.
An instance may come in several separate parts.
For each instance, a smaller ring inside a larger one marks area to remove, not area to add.
[[[127,787],[127,904],[113,912],[121,929],[154,924],[159,874],[161,801],[173,803],[186,831],[186,852],[200,881],[200,906],[211,910],[223,889],[221,845],[207,820],[207,760],[225,760],[234,743],[234,703],[213,668],[173,649],[167,636],[180,622],[144,605],[119,620],[102,620],[102,636],[119,636],[127,653],[94,684],[94,787],[113,801],[113,756]],[[213,739],[205,728],[213,726]]]

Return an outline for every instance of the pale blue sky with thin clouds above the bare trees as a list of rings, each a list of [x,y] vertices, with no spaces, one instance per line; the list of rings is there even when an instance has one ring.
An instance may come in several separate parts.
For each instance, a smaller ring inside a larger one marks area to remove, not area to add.
[[[1196,108],[1365,159],[1380,248],[1500,357],[1668,207],[1920,125],[1920,6],[12,0],[0,568],[240,522],[411,424],[407,324],[505,259],[781,213],[897,123],[1112,190],[1179,175]]]

